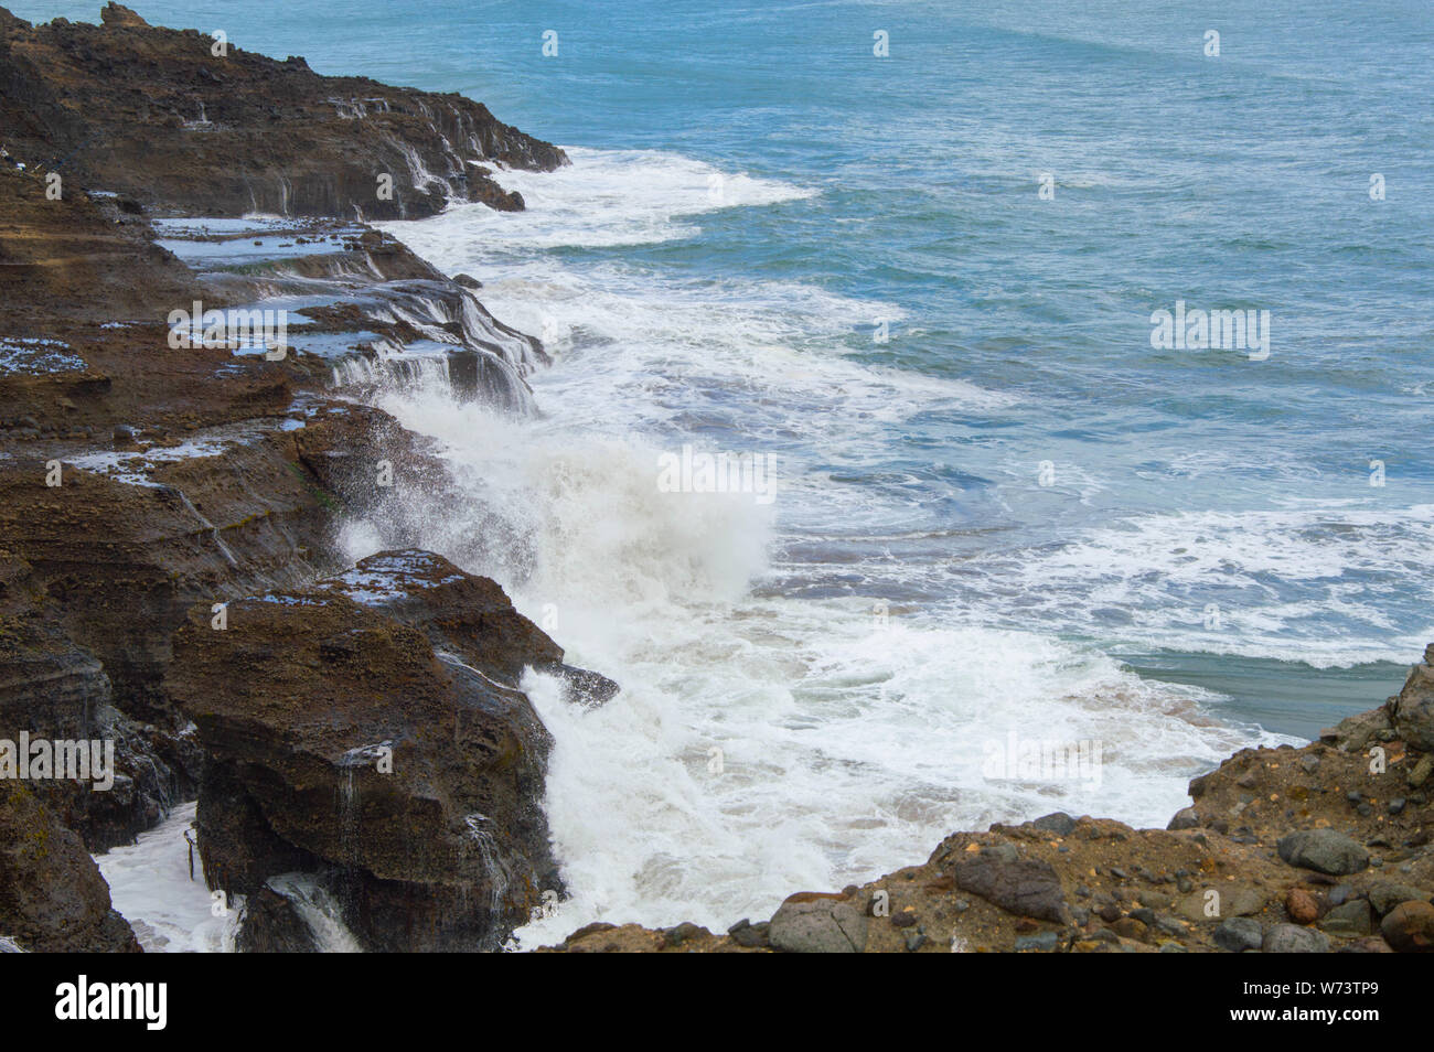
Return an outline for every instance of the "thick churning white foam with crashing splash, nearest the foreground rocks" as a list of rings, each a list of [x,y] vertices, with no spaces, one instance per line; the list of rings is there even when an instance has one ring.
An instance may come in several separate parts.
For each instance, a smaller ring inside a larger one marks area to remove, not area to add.
[[[470,493],[473,519],[435,519],[423,543],[498,578],[569,661],[624,688],[579,711],[525,684],[556,740],[548,813],[574,893],[525,946],[595,919],[769,916],[792,890],[869,879],[997,818],[1163,824],[1186,778],[1255,740],[1206,715],[1212,695],[1031,632],[879,629],[866,602],[754,598],[770,512],[661,493],[638,439],[437,391],[384,407],[440,437]],[[348,540],[354,558],[383,543],[373,526]],[[988,781],[984,750],[1012,731],[1103,741],[1100,785]]]

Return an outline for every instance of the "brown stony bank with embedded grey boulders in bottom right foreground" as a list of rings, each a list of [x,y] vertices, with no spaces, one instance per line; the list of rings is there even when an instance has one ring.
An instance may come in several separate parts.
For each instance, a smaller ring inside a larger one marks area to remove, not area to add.
[[[1434,952],[1434,645],[1304,748],[1242,750],[1164,830],[1048,814],[766,920],[589,924],[566,953]]]

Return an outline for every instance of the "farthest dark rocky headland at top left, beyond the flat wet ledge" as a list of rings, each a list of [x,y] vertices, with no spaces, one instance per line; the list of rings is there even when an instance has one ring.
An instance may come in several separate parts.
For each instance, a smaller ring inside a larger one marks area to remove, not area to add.
[[[459,95],[318,76],[303,59],[219,47],[115,4],[103,26],[30,26],[4,11],[0,34],[13,153],[65,158],[85,185],[191,215],[419,218],[450,196],[516,211],[522,198],[480,162],[566,163]]]

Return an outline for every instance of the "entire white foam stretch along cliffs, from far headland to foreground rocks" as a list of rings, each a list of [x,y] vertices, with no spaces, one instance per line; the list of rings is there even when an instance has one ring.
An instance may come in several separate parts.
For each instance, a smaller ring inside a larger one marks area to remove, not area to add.
[[[1215,719],[1215,695],[1034,628],[939,609],[882,626],[870,601],[753,590],[790,526],[902,522],[899,497],[835,487],[833,463],[879,457],[915,414],[1014,400],[852,357],[853,333],[869,340],[879,318],[901,318],[893,304],[541,251],[677,236],[704,211],[695,163],[667,159],[658,178],[648,155],[574,156],[555,175],[503,173],[528,198],[521,216],[453,209],[390,228],[479,274],[485,304],[542,333],[558,363],[532,377],[538,419],[433,387],[383,396],[445,443],[469,494],[466,516],[436,513],[420,543],[495,576],[569,661],[622,685],[589,711],[543,676],[525,682],[556,740],[548,814],[572,899],[525,929],[523,946],[598,919],[766,917],[793,890],[870,879],[994,820],[1068,810],[1163,824],[1190,775],[1275,740]],[[671,192],[664,172],[684,173]],[[688,440],[776,453],[776,505],[661,492],[658,454]],[[356,559],[389,543],[383,522],[346,540]],[[1012,732],[1100,741],[1098,784],[991,781],[987,750]]]

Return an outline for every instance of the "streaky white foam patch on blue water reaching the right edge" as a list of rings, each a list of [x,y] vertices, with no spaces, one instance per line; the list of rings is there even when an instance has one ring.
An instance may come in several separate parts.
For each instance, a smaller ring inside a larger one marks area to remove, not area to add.
[[[1170,649],[1316,668],[1405,662],[1434,619],[1400,633],[1390,592],[1427,579],[1431,547],[1428,505],[1144,515],[1057,546],[965,559],[984,595],[964,598],[1001,619],[1002,596],[1018,592],[1028,596],[1022,618],[1073,632],[1097,632],[1103,611],[1129,611],[1127,635]],[[1424,592],[1434,602],[1434,585]]]

